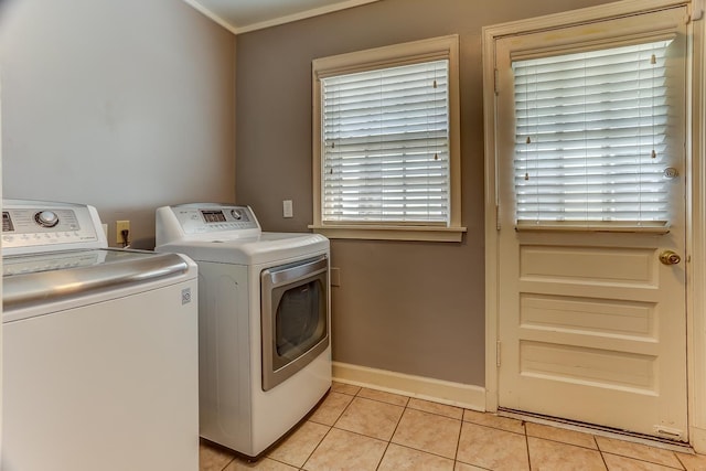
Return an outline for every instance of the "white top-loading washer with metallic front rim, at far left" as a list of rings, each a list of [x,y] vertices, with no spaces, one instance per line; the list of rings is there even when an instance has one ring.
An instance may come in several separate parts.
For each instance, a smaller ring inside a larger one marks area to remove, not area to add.
[[[197,267],[4,200],[3,471],[199,470]]]

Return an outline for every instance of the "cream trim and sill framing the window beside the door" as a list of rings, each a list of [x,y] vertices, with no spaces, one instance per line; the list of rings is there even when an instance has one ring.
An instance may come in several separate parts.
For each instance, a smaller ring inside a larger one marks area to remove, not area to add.
[[[321,221],[321,78],[431,61],[449,60],[449,225],[330,224]],[[457,34],[317,58],[312,62],[313,224],[309,228],[330,238],[461,242],[461,138],[459,36]]]

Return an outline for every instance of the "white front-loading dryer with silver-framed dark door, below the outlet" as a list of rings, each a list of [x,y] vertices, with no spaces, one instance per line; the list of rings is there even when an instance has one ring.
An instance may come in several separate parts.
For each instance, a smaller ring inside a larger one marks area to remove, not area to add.
[[[331,387],[329,239],[247,206],[157,210],[157,251],[199,264],[200,430],[258,458]]]

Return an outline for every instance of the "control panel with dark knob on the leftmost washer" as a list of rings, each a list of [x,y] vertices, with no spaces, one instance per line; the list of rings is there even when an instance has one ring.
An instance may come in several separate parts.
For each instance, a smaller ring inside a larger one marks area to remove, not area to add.
[[[96,248],[105,236],[100,225],[96,227],[94,213],[87,205],[3,200],[2,251],[58,250],[86,244],[85,248]]]

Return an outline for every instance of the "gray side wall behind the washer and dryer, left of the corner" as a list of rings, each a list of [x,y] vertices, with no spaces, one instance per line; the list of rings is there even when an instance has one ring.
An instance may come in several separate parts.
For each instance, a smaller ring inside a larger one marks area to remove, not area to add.
[[[3,196],[154,208],[235,197],[235,36],[178,0],[2,0]]]

